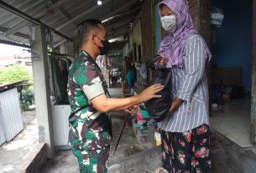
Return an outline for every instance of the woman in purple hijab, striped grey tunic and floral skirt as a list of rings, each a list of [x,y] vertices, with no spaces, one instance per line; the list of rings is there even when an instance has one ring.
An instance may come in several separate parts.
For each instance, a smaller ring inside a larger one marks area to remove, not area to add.
[[[172,69],[171,116],[159,123],[164,168],[171,173],[208,173],[210,127],[206,63],[212,58],[196,32],[187,0],[159,3],[162,27],[168,32],[159,55]]]

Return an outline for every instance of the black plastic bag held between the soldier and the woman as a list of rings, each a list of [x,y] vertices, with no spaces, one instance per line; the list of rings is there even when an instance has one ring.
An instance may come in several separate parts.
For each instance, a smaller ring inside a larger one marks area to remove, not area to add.
[[[170,116],[171,104],[171,69],[162,66],[155,67],[154,79],[151,84],[163,84],[164,89],[159,91],[162,97],[159,99],[150,99],[145,102],[145,107],[152,119],[157,122],[165,120],[166,116]]]

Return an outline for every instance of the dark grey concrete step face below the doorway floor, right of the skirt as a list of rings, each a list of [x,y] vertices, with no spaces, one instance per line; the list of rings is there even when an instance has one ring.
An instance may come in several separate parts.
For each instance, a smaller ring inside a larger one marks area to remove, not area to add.
[[[217,130],[212,129],[213,173],[255,173],[255,146],[243,148],[229,140]]]

